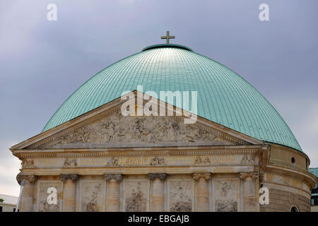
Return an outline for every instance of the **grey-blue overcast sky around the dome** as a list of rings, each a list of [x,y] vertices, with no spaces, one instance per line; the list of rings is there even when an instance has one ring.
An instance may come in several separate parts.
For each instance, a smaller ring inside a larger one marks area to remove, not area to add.
[[[259,20],[263,3],[269,21]],[[0,194],[19,193],[9,147],[40,133],[95,73],[165,42],[166,30],[252,83],[318,167],[317,10],[317,0],[1,0]]]

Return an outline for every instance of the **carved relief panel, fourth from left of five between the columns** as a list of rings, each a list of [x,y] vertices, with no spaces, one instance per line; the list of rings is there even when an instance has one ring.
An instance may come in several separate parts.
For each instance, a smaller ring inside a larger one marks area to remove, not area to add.
[[[191,212],[193,209],[193,182],[169,182],[169,210],[170,212]]]

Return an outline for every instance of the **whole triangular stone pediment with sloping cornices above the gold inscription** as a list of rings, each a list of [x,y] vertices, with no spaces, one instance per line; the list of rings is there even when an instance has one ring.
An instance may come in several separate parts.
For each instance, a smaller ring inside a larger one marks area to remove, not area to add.
[[[123,116],[119,98],[54,129],[40,133],[12,149],[129,148],[196,145],[259,144],[237,131],[198,117],[184,124],[184,116]],[[160,102],[165,104],[165,102]],[[174,111],[177,108],[174,107]]]

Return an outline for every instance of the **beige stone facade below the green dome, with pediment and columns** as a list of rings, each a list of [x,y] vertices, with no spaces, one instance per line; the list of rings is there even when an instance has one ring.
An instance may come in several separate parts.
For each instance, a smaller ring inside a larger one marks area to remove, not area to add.
[[[310,211],[317,180],[291,148],[201,118],[122,117],[119,100],[11,151],[23,161],[21,211]]]

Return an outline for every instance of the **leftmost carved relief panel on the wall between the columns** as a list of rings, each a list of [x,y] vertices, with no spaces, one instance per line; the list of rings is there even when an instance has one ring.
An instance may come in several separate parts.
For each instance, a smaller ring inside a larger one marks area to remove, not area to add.
[[[62,208],[63,183],[59,181],[39,181],[37,183],[38,210],[40,212],[59,212]]]

